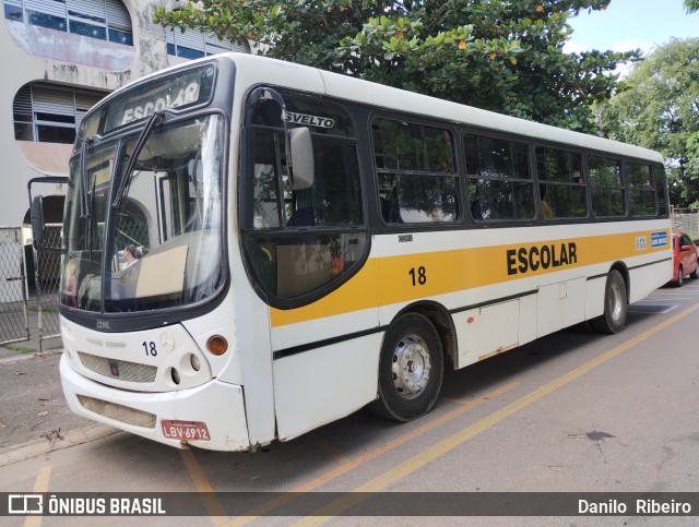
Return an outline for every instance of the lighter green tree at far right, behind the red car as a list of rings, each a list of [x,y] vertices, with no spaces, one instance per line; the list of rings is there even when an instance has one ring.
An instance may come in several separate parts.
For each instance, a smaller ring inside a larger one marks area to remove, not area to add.
[[[698,80],[699,38],[672,39],[635,64],[630,88],[600,110],[605,135],[665,156],[671,203],[679,206],[699,205],[699,169],[688,165],[699,154]]]

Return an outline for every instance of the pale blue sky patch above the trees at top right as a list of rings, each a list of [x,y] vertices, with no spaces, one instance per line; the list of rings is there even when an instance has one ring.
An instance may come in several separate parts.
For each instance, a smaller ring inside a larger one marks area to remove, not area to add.
[[[672,37],[699,37],[699,12],[687,14],[682,0],[612,0],[606,10],[581,11],[568,23],[568,52],[641,48],[648,55]]]

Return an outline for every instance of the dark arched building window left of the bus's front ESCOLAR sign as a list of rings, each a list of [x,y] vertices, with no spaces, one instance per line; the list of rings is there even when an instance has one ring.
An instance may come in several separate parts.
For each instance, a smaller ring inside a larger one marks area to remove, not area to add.
[[[73,143],[84,115],[104,93],[47,83],[25,84],[14,97],[14,139],[39,143]]]

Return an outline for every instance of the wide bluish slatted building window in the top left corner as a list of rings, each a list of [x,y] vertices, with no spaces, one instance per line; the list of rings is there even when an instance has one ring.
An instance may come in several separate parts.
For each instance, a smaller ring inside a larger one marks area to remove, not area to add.
[[[131,16],[120,0],[4,0],[4,17],[133,46]]]

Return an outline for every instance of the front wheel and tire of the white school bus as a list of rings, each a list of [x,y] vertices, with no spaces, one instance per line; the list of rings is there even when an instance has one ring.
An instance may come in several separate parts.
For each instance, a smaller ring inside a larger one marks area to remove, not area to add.
[[[379,417],[411,421],[427,414],[441,388],[445,358],[439,334],[426,316],[396,319],[379,358],[379,397],[369,409]]]

